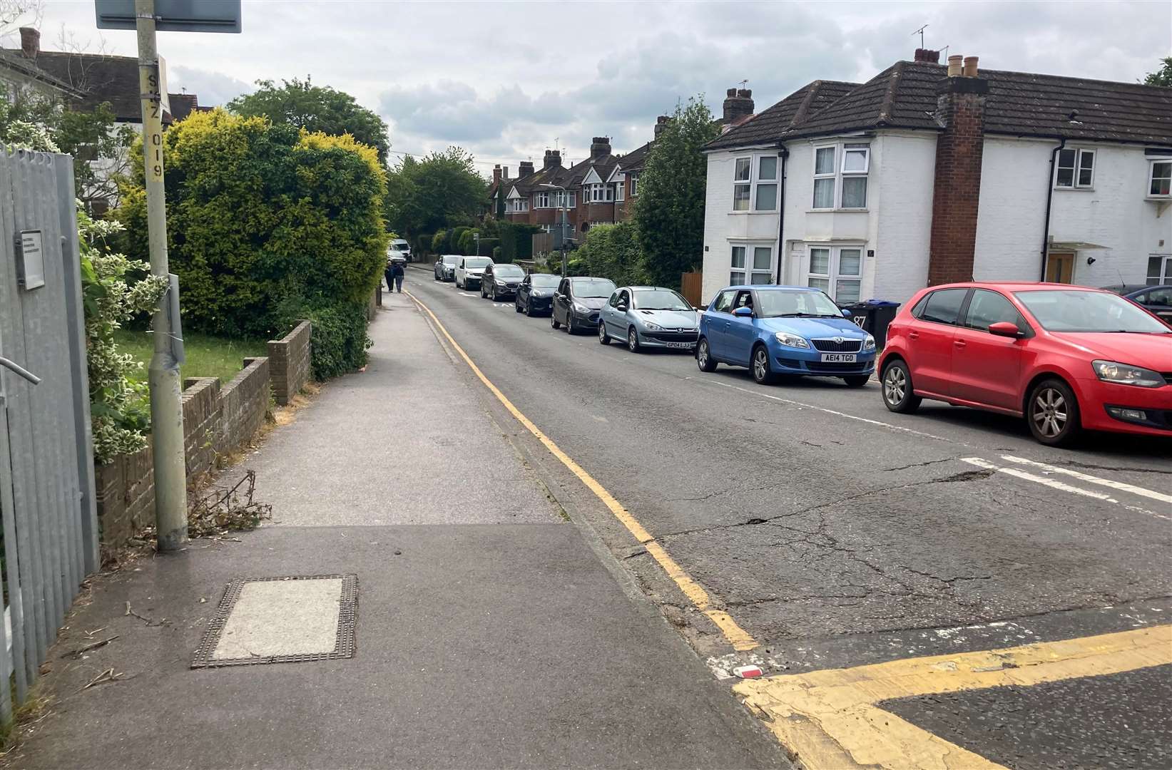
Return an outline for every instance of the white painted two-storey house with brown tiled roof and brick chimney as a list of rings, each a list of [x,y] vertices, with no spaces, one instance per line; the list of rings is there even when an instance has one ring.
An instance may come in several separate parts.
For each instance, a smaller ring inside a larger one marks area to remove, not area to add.
[[[843,304],[1172,282],[1172,89],[938,56],[815,81],[709,143],[704,301],[736,282]]]

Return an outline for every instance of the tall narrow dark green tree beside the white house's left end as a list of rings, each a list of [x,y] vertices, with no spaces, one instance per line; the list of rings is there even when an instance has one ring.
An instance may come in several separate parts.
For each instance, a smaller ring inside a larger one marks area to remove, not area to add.
[[[634,222],[643,272],[660,286],[679,288],[680,274],[703,261],[708,161],[701,148],[718,132],[703,96],[694,96],[676,105],[647,154]]]

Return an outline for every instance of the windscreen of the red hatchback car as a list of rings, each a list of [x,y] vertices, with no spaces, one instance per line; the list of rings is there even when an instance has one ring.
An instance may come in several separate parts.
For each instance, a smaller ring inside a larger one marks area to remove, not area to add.
[[[1047,332],[1139,332],[1172,334],[1172,329],[1116,294],[1048,288],[1014,292]]]

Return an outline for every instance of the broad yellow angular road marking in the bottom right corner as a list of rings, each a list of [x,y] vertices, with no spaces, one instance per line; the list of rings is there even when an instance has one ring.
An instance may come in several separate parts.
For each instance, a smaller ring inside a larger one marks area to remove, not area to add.
[[[734,690],[810,770],[999,768],[875,703],[1172,663],[1172,625],[956,655],[771,676]]]

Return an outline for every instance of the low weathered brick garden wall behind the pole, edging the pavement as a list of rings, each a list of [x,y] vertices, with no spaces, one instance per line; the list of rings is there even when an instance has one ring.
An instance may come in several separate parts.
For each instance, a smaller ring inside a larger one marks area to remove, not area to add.
[[[304,326],[308,340],[308,325]],[[244,362],[244,369],[223,387],[216,377],[184,382],[183,450],[189,479],[212,470],[218,454],[246,444],[265,422],[270,361],[260,357]],[[95,471],[102,545],[118,547],[155,522],[151,449],[148,445],[132,455],[121,455]]]

